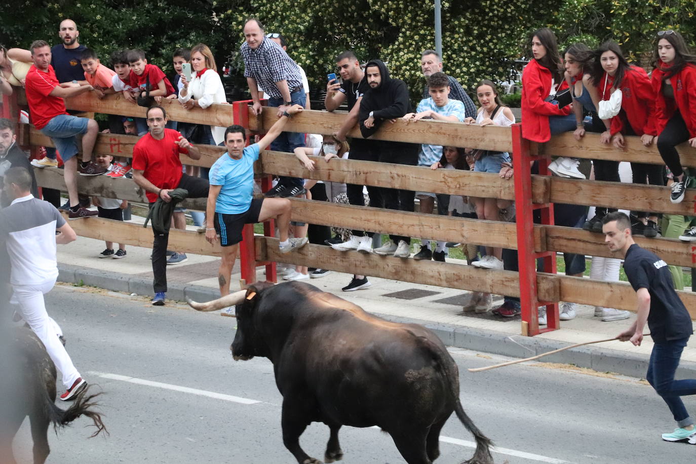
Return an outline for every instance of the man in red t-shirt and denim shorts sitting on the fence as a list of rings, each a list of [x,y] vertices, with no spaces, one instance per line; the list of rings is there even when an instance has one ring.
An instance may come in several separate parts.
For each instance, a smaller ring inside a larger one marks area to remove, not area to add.
[[[51,137],[65,163],[65,185],[70,197],[68,218],[79,219],[96,216],[97,211],[90,211],[79,204],[77,198],[77,140],[82,137],[82,163],[80,175],[100,175],[106,169],[92,161],[92,150],[97,141],[99,125],[93,119],[77,118],[65,111],[63,98],[75,97],[94,90],[92,86],[79,86],[72,83],[58,83],[56,72],[51,63],[51,47],[43,40],[31,44],[31,59],[34,64],[26,74],[26,101],[33,125]]]

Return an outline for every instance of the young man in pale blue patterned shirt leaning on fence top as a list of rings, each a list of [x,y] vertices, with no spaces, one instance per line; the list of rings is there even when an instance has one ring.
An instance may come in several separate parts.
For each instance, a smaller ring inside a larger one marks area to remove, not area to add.
[[[404,121],[418,121],[430,118],[438,121],[462,122],[466,117],[464,103],[450,99],[450,81],[444,72],[435,72],[428,77],[428,92],[430,98],[420,100],[416,113],[404,115]],[[442,145],[420,145],[418,154],[418,166],[431,167],[442,158]],[[432,213],[435,206],[435,193],[416,192],[416,198],[420,202],[421,213]],[[447,214],[449,195],[437,195],[438,210],[440,214]],[[445,261],[445,242],[438,241],[435,253],[430,249],[430,241],[423,240],[420,251],[413,255],[413,259],[431,259]]]

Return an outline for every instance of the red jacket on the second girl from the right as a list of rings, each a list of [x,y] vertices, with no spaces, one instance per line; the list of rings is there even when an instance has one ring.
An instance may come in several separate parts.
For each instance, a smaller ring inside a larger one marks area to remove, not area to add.
[[[603,100],[608,100],[611,97],[614,83],[614,78],[609,76],[605,90],[604,79],[606,77],[607,73],[605,72],[597,83],[597,91]],[[643,134],[657,135],[655,131],[655,93],[647,72],[642,67],[631,66],[624,72],[624,79],[619,84],[619,90],[623,93],[621,108],[626,113],[626,118],[635,134],[638,136]],[[611,134],[614,135],[622,131],[624,131],[624,122],[619,115],[615,115],[611,118]]]

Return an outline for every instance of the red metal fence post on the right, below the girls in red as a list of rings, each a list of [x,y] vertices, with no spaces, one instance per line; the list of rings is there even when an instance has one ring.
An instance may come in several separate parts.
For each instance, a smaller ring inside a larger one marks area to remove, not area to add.
[[[538,158],[539,173],[548,175],[548,159]],[[524,335],[556,330],[558,303],[540,302],[537,297],[537,258],[543,262],[543,270],[556,272],[555,253],[537,253],[534,243],[534,211],[539,209],[542,224],[553,224],[553,204],[532,203],[532,161],[530,143],[522,138],[522,125],[512,126],[512,166],[514,168],[515,212],[517,220],[517,255],[519,257],[520,303]],[[547,326],[539,328],[538,307],[546,305]]]

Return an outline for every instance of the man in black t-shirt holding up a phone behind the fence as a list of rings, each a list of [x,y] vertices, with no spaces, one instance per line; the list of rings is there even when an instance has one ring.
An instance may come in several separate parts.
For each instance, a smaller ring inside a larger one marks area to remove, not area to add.
[[[355,127],[358,122],[358,111],[360,110],[360,102],[363,99],[363,94],[370,86],[367,85],[365,72],[360,67],[358,58],[352,51],[344,51],[336,57],[336,67],[342,79],[342,83],[338,83],[338,79],[331,80],[326,84],[326,97],[324,98],[324,106],[326,110],[334,111],[343,102],[348,104],[348,117],[345,119],[341,127],[333,135],[339,141],[346,140],[346,134]],[[363,138],[351,138],[350,140],[350,159],[361,159],[363,161],[377,161],[374,157],[374,152],[370,150],[372,142],[366,141]],[[363,196],[364,186],[358,184],[347,184],[346,195],[348,202],[351,205],[365,206],[365,197]],[[367,192],[370,193],[370,205],[380,207],[379,205],[379,190],[377,187],[367,186]],[[353,230],[351,237],[343,243],[331,243],[331,248],[340,251],[358,250],[363,253],[372,251],[372,232],[365,233],[363,230]],[[353,279],[343,288],[343,291],[353,291],[370,287],[370,282],[365,275],[354,275]]]

